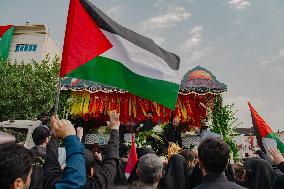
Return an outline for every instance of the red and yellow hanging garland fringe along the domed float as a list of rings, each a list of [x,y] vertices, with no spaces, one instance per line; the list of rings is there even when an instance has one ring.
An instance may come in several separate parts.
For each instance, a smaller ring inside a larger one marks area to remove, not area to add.
[[[101,119],[102,116],[107,116],[109,111],[117,110],[120,113],[121,123],[131,125],[131,123],[144,120],[146,112],[152,110],[155,122],[165,123],[172,116],[178,116],[181,122],[200,127],[201,118],[206,117],[206,108],[201,104],[208,106],[208,103],[214,101],[215,97],[211,94],[180,94],[176,109],[172,112],[169,108],[130,93],[71,92],[70,100],[66,104],[66,114],[72,119],[81,117],[88,121]]]

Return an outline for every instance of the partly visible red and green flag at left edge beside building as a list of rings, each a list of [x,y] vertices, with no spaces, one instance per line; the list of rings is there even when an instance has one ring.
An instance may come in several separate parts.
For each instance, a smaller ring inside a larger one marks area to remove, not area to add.
[[[0,26],[0,58],[8,58],[13,33],[13,25]]]

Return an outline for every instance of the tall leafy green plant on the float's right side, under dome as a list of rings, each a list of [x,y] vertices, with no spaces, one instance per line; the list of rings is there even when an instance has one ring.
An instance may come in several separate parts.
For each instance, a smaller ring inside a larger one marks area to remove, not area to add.
[[[223,140],[229,145],[230,151],[234,159],[238,158],[238,148],[233,140],[234,129],[241,123],[235,117],[233,111],[234,104],[223,105],[221,96],[216,97],[215,104],[212,110],[212,123],[210,125],[213,132],[222,136]]]

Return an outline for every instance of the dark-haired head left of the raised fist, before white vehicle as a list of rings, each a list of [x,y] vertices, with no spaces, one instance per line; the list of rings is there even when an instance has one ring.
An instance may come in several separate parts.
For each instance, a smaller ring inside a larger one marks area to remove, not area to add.
[[[49,141],[49,137],[50,130],[46,125],[38,126],[32,133],[32,138],[35,145],[47,144]]]

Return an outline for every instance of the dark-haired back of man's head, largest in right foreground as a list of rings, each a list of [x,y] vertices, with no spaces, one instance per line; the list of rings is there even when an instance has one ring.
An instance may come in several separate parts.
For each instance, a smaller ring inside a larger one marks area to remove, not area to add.
[[[198,159],[204,175],[222,173],[229,159],[228,145],[219,139],[209,138],[198,147]]]

